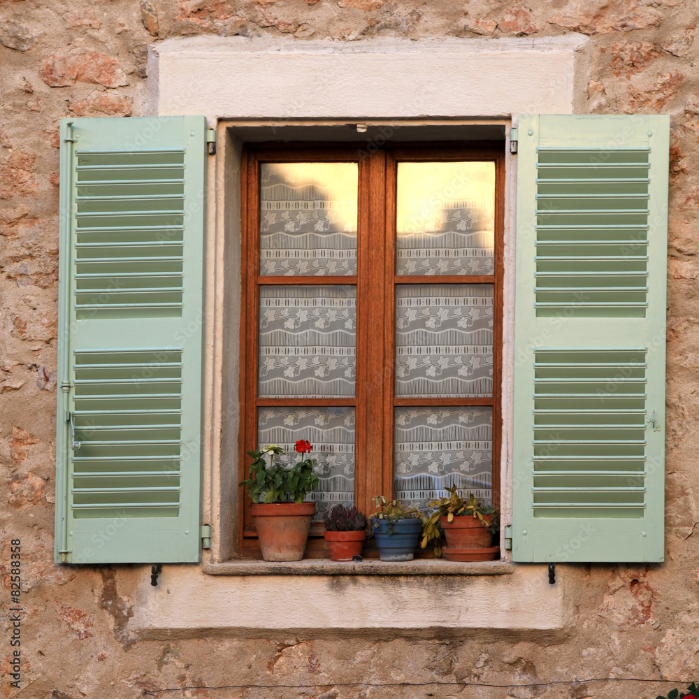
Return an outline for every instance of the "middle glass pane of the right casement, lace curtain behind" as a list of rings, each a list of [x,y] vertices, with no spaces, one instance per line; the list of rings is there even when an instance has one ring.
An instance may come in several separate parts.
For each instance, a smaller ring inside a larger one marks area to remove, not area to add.
[[[493,285],[396,287],[396,396],[493,395]]]

